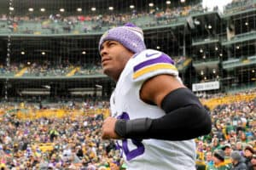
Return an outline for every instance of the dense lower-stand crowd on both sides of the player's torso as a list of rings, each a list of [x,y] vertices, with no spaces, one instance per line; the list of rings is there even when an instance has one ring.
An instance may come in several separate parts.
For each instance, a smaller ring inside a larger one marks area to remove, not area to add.
[[[224,94],[218,97],[223,98]],[[254,98],[218,105],[211,111],[212,133],[196,139],[197,169],[236,169],[236,162],[255,169],[255,105]],[[105,101],[43,107],[2,104],[0,169],[125,169],[120,150],[113,141],[101,139],[102,120],[106,115],[95,110],[108,106]],[[53,107],[67,114],[26,118],[28,113],[24,111],[25,118],[19,118],[11,111],[21,111],[20,108],[50,111]],[[79,110],[82,114],[78,114]]]

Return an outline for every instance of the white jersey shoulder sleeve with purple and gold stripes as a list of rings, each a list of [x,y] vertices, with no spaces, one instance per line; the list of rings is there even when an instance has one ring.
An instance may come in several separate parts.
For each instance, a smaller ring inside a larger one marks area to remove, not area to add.
[[[170,56],[154,49],[147,49],[133,56],[134,82],[144,82],[160,74],[169,74],[178,78],[177,68]]]

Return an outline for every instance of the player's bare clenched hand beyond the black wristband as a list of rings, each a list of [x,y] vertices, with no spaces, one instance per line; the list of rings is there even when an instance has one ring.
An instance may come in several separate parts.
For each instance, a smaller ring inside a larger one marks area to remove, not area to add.
[[[102,139],[121,139],[117,133],[114,132],[116,118],[109,116],[102,125]]]

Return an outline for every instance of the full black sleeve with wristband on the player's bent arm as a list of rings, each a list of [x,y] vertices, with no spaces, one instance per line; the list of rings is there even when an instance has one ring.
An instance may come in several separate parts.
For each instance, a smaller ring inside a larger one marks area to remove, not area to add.
[[[115,132],[131,139],[194,139],[211,132],[208,111],[188,88],[177,88],[161,103],[165,116],[157,119],[118,120]]]

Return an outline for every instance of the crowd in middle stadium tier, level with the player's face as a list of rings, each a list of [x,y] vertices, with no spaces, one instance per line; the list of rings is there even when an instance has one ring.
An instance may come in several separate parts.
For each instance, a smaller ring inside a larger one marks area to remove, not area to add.
[[[177,65],[182,65],[186,57],[174,56]],[[9,66],[0,64],[0,76],[15,76],[20,77],[60,77],[60,76],[84,76],[102,74],[102,65],[99,63],[80,62],[72,63],[69,59],[61,62],[50,61],[27,61],[11,63]]]

